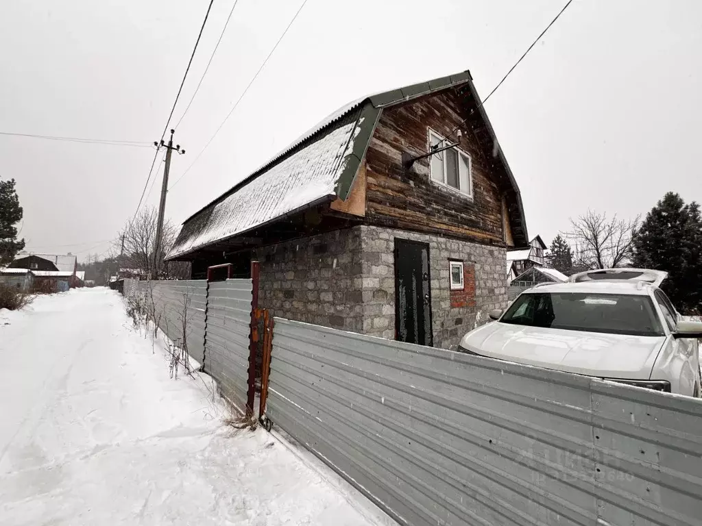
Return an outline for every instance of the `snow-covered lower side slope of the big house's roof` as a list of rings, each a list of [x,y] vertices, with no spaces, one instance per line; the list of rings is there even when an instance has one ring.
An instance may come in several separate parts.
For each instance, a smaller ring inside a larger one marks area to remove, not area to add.
[[[343,119],[326,135],[185,222],[168,257],[241,234],[326,197],[331,200],[362,121],[356,113]]]

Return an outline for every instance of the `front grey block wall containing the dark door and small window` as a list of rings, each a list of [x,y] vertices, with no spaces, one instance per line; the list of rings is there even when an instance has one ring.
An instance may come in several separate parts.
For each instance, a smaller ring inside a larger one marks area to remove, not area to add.
[[[429,244],[435,347],[456,349],[465,332],[489,321],[491,309],[507,306],[505,248],[396,229],[357,228],[361,231],[364,334],[395,337],[395,238]],[[451,294],[449,259],[463,261],[466,294],[474,288],[475,301],[456,301],[455,292]],[[468,283],[471,279],[474,283]]]

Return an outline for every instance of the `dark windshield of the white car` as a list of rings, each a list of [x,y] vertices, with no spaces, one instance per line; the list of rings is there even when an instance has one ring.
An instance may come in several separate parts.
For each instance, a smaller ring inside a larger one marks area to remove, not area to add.
[[[500,321],[618,335],[663,335],[653,302],[643,295],[530,292],[519,296]]]

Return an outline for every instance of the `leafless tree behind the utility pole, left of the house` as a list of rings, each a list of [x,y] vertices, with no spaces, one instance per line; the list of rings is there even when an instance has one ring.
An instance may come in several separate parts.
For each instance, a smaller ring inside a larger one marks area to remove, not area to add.
[[[143,279],[190,278],[190,264],[164,261],[164,256],[168,255],[178,236],[178,229],[170,221],[164,223],[159,243],[159,257],[154,255],[157,221],[158,213],[155,208],[143,208],[133,220],[124,225],[114,245],[117,254],[122,252],[122,256],[118,256],[120,267],[132,269]],[[123,236],[124,250],[121,245]]]

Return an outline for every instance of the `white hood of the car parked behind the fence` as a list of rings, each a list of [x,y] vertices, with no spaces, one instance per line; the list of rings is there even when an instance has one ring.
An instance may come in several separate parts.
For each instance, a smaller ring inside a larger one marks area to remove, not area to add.
[[[649,379],[664,336],[611,335],[498,321],[469,332],[461,347],[480,356],[607,378]]]

